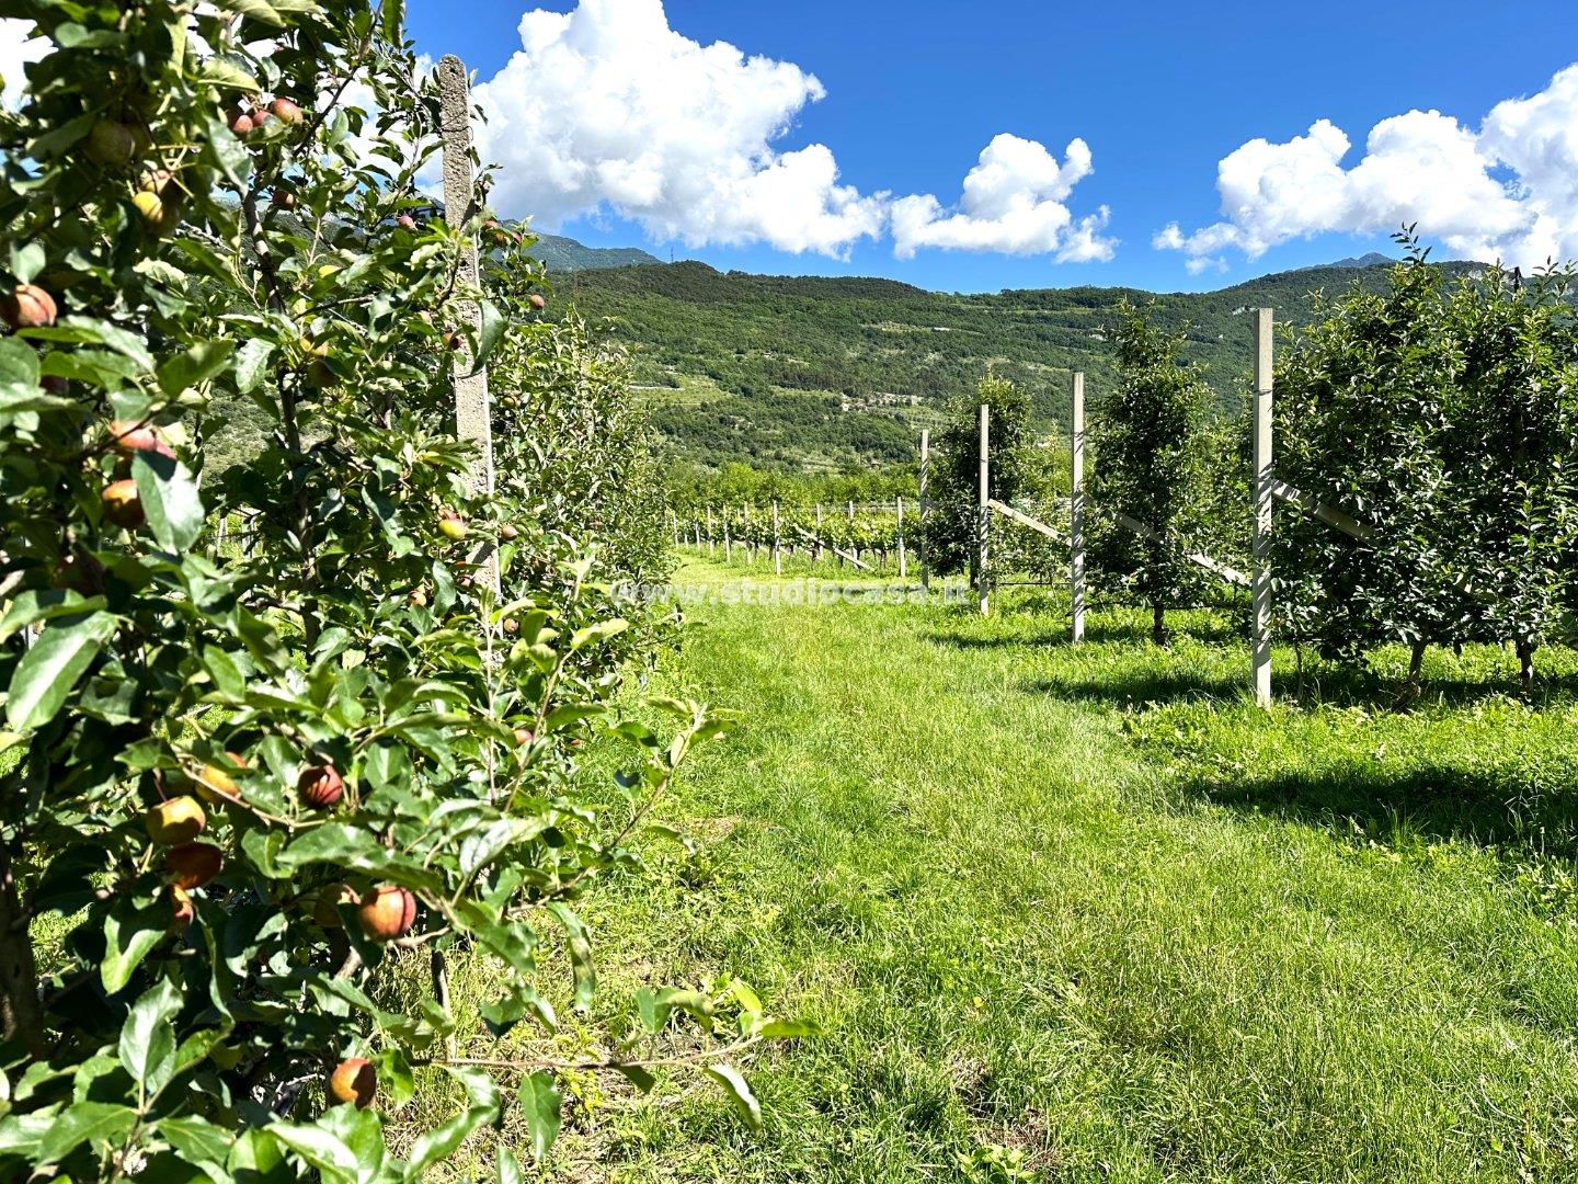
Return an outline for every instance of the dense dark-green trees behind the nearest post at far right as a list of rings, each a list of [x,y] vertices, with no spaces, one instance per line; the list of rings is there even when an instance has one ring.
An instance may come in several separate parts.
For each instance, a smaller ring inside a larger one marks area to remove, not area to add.
[[[1411,238],[1384,294],[1322,308],[1278,368],[1278,472],[1360,519],[1284,515],[1284,625],[1322,655],[1401,643],[1537,646],[1567,625],[1578,327],[1565,270],[1449,284]]]

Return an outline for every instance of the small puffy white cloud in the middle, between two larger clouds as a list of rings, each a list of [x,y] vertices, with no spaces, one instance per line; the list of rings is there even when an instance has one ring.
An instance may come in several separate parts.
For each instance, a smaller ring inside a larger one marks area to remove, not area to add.
[[[948,213],[931,194],[893,202],[893,248],[911,259],[922,248],[1056,254],[1059,262],[1108,260],[1116,242],[1103,238],[1111,212],[1075,223],[1065,205],[1075,185],[1090,175],[1090,148],[1076,139],[1057,161],[1045,145],[1002,134],[986,145],[964,178],[958,210]]]

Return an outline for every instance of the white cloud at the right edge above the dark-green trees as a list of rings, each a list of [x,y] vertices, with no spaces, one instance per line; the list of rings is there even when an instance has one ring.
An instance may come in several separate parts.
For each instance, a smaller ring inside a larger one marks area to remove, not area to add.
[[[1419,223],[1464,257],[1523,267],[1578,257],[1578,66],[1499,104],[1477,131],[1411,111],[1378,123],[1344,167],[1351,148],[1330,120],[1283,144],[1250,141],[1217,167],[1223,221],[1193,234],[1174,223],[1152,245],[1184,251],[1201,272],[1228,249],[1253,259],[1291,238]]]

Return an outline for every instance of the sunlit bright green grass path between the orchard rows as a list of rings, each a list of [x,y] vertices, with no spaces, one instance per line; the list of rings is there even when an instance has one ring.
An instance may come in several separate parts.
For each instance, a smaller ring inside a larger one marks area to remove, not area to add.
[[[585,1178],[1578,1178],[1578,942],[1498,854],[1187,791],[1089,693],[1157,661],[1122,635],[694,617],[664,677],[742,723],[669,810],[704,856],[592,909],[604,979],[732,972],[827,1034],[746,1066],[764,1133],[612,1107]]]

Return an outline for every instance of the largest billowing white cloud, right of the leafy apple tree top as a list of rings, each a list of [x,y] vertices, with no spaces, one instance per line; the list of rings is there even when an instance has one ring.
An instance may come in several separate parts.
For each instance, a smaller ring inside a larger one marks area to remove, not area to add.
[[[885,194],[839,185],[827,147],[773,148],[825,95],[798,66],[691,41],[661,0],[581,0],[519,28],[521,52],[475,90],[505,215],[552,227],[608,205],[693,246],[835,256],[882,234]]]

